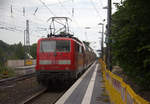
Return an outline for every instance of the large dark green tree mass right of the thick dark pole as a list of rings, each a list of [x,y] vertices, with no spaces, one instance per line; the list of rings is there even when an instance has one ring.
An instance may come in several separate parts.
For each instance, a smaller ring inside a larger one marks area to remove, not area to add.
[[[141,88],[150,89],[150,1],[126,0],[112,16],[112,55]]]

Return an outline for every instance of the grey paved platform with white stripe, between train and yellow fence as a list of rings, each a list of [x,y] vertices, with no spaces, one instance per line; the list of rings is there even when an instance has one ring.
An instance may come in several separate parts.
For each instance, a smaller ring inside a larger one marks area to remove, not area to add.
[[[102,86],[100,64],[95,62],[55,104],[110,104]]]

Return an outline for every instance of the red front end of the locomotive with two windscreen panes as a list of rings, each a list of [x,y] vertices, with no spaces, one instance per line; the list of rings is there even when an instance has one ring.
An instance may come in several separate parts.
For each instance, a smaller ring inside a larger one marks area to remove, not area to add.
[[[37,79],[65,80],[73,75],[73,46],[69,38],[43,38],[37,46]]]

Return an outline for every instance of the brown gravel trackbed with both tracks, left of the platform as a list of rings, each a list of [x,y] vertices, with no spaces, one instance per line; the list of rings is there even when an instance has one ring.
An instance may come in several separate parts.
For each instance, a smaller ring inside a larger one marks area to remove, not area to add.
[[[0,80],[0,104],[54,104],[68,89],[40,87],[35,73]],[[21,103],[20,103],[21,102]]]

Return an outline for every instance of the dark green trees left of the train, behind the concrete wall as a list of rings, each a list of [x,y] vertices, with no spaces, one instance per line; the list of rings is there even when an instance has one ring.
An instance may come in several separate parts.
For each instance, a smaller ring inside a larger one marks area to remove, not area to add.
[[[30,47],[31,56],[36,58],[36,44]],[[0,65],[4,65],[8,59],[24,59],[25,47],[21,42],[9,45],[0,40]]]

